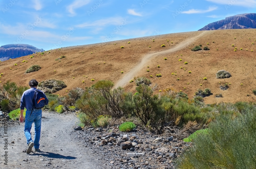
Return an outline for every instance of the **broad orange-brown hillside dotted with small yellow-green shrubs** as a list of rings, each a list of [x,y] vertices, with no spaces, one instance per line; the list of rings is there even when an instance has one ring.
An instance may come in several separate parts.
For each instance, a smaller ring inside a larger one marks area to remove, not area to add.
[[[205,103],[255,101],[256,96],[252,93],[252,90],[256,89],[254,73],[256,45],[252,44],[256,44],[254,39],[256,39],[255,29],[237,29],[173,33],[64,47],[61,50],[51,50],[50,53],[45,52],[44,55],[34,54],[33,58],[29,55],[0,63],[0,73],[4,74],[0,81],[4,83],[10,80],[20,86],[26,86],[32,78],[38,81],[58,79],[64,81],[68,87],[57,93],[65,95],[66,90],[91,86],[101,79],[112,80],[115,84],[134,91],[135,84],[129,81],[134,76],[145,76],[158,84],[158,90],[165,88],[182,90],[189,98],[193,98],[199,88],[210,88],[213,95],[206,97]],[[161,47],[162,44],[166,47]],[[199,44],[202,44],[202,48],[208,46],[210,50],[191,51]],[[120,49],[120,46],[124,46],[124,49]],[[234,52],[235,47],[238,48],[237,52]],[[65,55],[66,58],[55,61],[61,55]],[[164,60],[165,57],[167,60]],[[28,62],[22,63],[23,60]],[[184,62],[188,64],[185,65]],[[17,66],[14,66],[15,63]],[[26,69],[36,64],[41,66],[39,71],[25,73]],[[157,65],[160,65],[160,68],[157,68]],[[147,72],[147,69],[150,72]],[[215,74],[222,69],[229,71],[232,77],[217,79]],[[124,73],[121,74],[121,71]],[[188,71],[192,73],[189,74]],[[160,79],[156,77],[159,73],[162,74]],[[172,73],[177,76],[171,75]],[[150,75],[153,75],[153,78],[150,78]],[[207,77],[207,80],[202,80],[204,77]],[[231,83],[231,85],[228,90],[222,91],[219,89],[219,82]],[[215,98],[214,95],[219,93],[224,97]]]

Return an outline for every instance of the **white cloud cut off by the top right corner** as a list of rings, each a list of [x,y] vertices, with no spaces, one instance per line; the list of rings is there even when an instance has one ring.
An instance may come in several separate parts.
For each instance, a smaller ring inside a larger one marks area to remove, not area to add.
[[[223,5],[236,5],[236,6],[244,6],[244,7],[255,7],[256,1],[255,0],[206,0],[217,4],[223,4]]]

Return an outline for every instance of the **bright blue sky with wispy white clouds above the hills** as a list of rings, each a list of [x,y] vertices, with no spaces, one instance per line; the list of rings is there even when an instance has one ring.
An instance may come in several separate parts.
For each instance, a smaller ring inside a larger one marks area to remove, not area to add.
[[[197,31],[208,23],[255,13],[256,0],[2,0],[0,46],[44,50]]]

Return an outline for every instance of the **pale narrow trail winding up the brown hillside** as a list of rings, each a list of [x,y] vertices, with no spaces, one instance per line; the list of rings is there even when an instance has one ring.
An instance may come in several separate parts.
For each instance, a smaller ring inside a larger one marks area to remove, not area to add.
[[[129,81],[131,79],[133,79],[133,77],[136,77],[137,73],[142,69],[142,67],[144,65],[146,65],[148,62],[150,62],[150,59],[160,55],[160,54],[169,54],[169,53],[173,53],[173,52],[177,52],[183,48],[185,48],[186,46],[188,46],[189,44],[191,44],[193,41],[197,40],[198,38],[202,37],[203,35],[205,35],[206,33],[210,33],[210,31],[202,31],[202,33],[200,33],[199,35],[189,38],[185,41],[180,42],[179,44],[177,44],[176,46],[174,46],[171,49],[168,50],[164,50],[164,51],[159,51],[159,52],[155,52],[155,53],[149,53],[146,54],[141,61],[134,66],[133,68],[131,68],[131,70],[128,73],[125,73],[123,75],[123,77],[115,83],[114,88],[117,88],[119,86],[124,87],[127,83],[129,83]]]

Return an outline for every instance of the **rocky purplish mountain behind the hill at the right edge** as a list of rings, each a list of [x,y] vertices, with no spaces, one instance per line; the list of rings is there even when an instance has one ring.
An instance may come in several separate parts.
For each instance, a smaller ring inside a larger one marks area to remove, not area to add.
[[[212,22],[206,25],[203,30],[219,30],[219,29],[255,29],[256,28],[256,13],[239,14],[226,17],[223,20]]]

